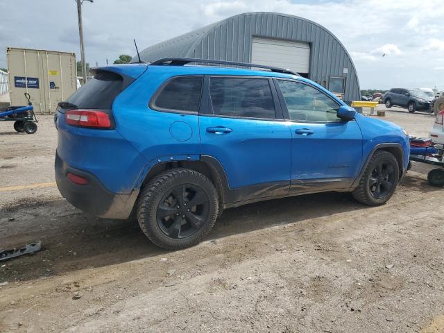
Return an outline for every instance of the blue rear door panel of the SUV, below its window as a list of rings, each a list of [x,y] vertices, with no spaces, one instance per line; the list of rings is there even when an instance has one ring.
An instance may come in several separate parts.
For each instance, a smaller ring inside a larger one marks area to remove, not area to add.
[[[208,133],[223,126],[231,133]],[[284,121],[200,115],[201,153],[216,157],[231,189],[290,180],[291,133]]]

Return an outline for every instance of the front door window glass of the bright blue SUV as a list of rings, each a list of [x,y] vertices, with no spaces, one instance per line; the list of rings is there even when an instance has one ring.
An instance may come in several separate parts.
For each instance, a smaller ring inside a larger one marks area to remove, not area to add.
[[[318,89],[290,80],[278,80],[284,96],[289,117],[293,121],[331,122],[339,121],[338,103]]]

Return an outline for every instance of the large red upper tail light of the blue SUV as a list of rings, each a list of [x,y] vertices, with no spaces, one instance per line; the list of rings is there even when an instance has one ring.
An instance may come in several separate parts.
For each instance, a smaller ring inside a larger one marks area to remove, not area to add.
[[[111,128],[110,115],[99,110],[69,110],[65,114],[68,125],[92,128]]]

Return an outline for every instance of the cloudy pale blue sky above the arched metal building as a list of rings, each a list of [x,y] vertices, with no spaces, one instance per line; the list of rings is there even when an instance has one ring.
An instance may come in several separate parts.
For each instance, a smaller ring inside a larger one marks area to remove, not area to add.
[[[94,0],[83,3],[86,60],[112,63],[241,12],[282,12],[325,26],[344,44],[361,89],[444,89],[442,0]],[[75,52],[75,0],[0,0],[0,67],[6,46]],[[385,54],[385,56],[383,56]]]

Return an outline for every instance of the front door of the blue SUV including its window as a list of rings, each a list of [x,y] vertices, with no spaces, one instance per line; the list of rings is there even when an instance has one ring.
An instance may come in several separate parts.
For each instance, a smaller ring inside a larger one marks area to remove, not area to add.
[[[290,121],[291,191],[350,187],[362,160],[357,122],[339,119],[339,103],[317,87],[296,80],[275,82]]]

